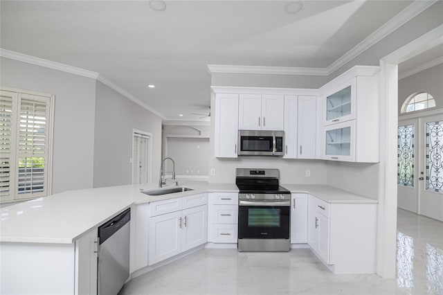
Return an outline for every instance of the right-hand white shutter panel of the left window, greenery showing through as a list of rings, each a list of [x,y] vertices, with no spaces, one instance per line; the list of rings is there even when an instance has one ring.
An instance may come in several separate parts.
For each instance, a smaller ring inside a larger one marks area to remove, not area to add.
[[[47,194],[49,103],[43,96],[18,94],[17,199]]]

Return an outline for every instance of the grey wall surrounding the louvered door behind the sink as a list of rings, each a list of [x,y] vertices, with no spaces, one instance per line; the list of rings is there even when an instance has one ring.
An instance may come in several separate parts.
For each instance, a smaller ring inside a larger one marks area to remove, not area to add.
[[[152,181],[159,181],[161,118],[97,82],[93,186],[131,184],[132,129],[152,134]]]

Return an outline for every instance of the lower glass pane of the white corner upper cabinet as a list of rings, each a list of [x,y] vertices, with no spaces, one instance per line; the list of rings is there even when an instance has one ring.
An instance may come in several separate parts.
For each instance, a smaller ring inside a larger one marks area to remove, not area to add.
[[[351,153],[351,127],[326,132],[326,154],[349,156]]]

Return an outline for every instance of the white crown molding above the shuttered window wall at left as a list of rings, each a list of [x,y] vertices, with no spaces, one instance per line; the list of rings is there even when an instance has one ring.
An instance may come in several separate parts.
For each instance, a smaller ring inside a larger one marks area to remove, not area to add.
[[[55,69],[57,71],[64,71],[66,73],[73,73],[74,75],[81,75],[87,78],[97,79],[98,73],[94,71],[88,71],[80,69],[75,66],[69,66],[68,64],[61,64],[60,62],[53,62],[51,60],[44,60],[43,58],[35,57],[32,55],[26,55],[15,51],[0,48],[0,56],[9,58],[10,60],[18,60],[19,62],[26,62],[28,64],[35,64],[37,66],[44,66],[49,69]]]

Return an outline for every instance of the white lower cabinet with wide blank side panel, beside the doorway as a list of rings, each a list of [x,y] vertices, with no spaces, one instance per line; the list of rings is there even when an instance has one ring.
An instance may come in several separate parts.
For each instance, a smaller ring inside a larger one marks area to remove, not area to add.
[[[376,203],[327,203],[308,195],[307,241],[335,274],[375,273]]]

